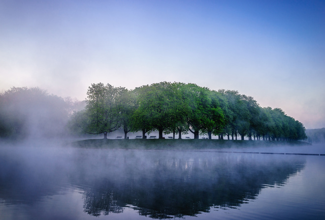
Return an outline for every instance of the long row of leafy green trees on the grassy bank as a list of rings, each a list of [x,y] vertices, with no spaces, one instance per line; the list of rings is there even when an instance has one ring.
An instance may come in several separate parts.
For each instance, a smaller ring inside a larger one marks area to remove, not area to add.
[[[91,84],[86,108],[75,112],[70,128],[81,133],[107,134],[123,128],[145,135],[158,131],[191,132],[223,139],[248,137],[269,140],[306,139],[305,128],[281,109],[261,108],[253,97],[233,90],[210,90],[193,83],[154,83],[134,90],[103,83]]]

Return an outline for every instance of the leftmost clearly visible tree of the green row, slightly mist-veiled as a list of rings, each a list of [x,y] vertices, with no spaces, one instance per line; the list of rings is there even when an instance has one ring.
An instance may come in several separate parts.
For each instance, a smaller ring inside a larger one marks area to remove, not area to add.
[[[125,88],[103,83],[91,84],[87,91],[87,133],[107,134],[121,126],[121,102]]]

